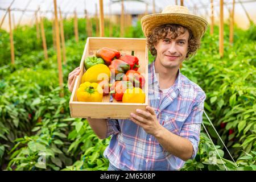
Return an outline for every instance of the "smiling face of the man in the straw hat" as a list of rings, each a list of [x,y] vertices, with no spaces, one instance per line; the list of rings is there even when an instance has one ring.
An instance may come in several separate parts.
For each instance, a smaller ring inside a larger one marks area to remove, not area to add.
[[[154,45],[156,61],[167,69],[179,68],[188,53],[189,32],[185,30],[183,34],[174,37],[172,32],[168,32],[167,36]]]

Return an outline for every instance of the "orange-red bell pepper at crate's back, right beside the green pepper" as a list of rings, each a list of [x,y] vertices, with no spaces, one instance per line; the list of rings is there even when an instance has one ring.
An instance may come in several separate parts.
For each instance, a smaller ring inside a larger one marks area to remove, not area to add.
[[[98,49],[98,51],[96,52],[96,57],[101,57],[106,65],[110,65],[112,60],[120,57],[120,52],[115,49],[103,47],[101,49]]]

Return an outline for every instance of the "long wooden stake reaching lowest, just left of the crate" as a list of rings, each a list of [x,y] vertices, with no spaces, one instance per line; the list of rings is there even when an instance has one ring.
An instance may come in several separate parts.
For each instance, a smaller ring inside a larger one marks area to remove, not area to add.
[[[62,64],[61,64],[61,51],[60,51],[60,33],[59,33],[59,24],[58,24],[58,16],[57,16],[57,3],[56,0],[54,2],[54,15],[55,15],[55,32],[56,32],[56,48],[57,48],[57,61],[58,61],[58,69],[59,69],[59,84],[60,84],[60,97],[64,97],[63,90],[63,74],[62,74]]]

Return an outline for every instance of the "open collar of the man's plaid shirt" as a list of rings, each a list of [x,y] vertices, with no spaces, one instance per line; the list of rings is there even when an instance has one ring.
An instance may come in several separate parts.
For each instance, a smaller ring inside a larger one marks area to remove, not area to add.
[[[156,73],[155,73],[155,60],[149,65],[148,70],[150,71],[150,78],[148,80],[148,84],[157,84],[158,83],[158,78],[156,77]],[[181,73],[180,73],[180,69],[178,69],[178,76],[174,82],[174,85],[172,85],[172,88],[174,88],[174,90],[178,90],[179,93],[181,93],[181,88],[182,88],[182,77],[181,77]]]

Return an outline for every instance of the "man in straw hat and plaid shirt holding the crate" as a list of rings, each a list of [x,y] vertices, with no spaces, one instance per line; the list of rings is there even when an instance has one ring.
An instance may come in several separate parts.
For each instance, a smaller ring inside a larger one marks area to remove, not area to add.
[[[148,65],[146,111],[130,119],[91,119],[101,139],[112,135],[104,155],[109,170],[176,170],[196,156],[205,93],[180,73],[181,63],[199,48],[207,22],[183,6],[146,15],[142,30],[154,62]],[[69,90],[79,71],[69,75]],[[73,81],[72,81],[73,80]]]

